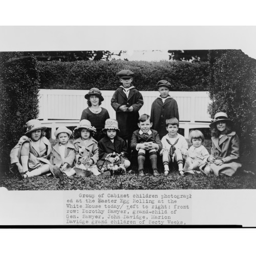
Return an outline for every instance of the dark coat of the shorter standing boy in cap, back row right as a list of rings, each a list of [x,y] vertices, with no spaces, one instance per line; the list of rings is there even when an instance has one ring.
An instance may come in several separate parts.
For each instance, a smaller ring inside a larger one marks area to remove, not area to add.
[[[176,100],[168,98],[163,103],[162,99],[155,99],[151,107],[151,121],[153,122],[152,129],[158,131],[160,139],[167,134],[165,121],[170,117],[176,117],[179,120]]]

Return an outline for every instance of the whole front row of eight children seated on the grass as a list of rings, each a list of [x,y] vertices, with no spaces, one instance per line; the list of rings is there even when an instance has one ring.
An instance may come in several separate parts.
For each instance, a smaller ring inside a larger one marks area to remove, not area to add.
[[[186,139],[178,134],[177,118],[166,119],[168,132],[160,140],[157,131],[152,130],[153,123],[149,115],[139,117],[139,130],[133,133],[132,150],[138,152],[139,176],[144,176],[146,156],[150,159],[154,176],[160,175],[157,169],[157,152],[162,155],[164,175],[169,173],[169,163],[176,161],[181,176],[194,174],[194,170],[205,175],[232,176],[241,167],[239,158],[239,138],[231,129],[232,121],[225,113],[217,113],[210,124],[212,130],[211,155],[202,145],[203,134],[191,131],[189,141],[193,144],[188,149]],[[44,137],[44,130],[39,120],[27,122],[27,132],[12,149],[11,167],[17,167],[22,178],[41,174],[53,174],[55,177],[74,176],[82,170],[84,176],[111,176],[125,174],[130,166],[127,158],[125,141],[117,136],[118,122],[107,119],[103,129],[104,137],[97,142],[93,138],[96,131],[90,121],[83,119],[74,130],[73,144],[69,141],[72,132],[67,127],[59,127],[55,132],[58,143],[53,147]],[[21,162],[21,163],[20,163]],[[185,162],[185,164],[184,164]],[[184,165],[184,166],[183,166]]]

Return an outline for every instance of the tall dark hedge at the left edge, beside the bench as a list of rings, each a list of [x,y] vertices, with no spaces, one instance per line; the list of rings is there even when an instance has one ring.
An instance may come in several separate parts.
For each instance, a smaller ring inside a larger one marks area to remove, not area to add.
[[[1,52],[0,71],[0,171],[6,172],[11,148],[37,118],[39,80],[36,59],[19,52]]]

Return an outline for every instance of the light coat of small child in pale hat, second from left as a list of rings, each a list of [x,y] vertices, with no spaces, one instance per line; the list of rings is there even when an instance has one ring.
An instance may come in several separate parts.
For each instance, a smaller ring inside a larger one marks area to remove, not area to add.
[[[64,158],[65,160],[62,162],[59,152],[59,143],[57,143],[52,149],[50,163],[58,167],[62,166],[65,163],[68,163],[69,166],[66,168],[66,172],[68,172],[73,167],[73,163],[75,160],[75,147],[70,142],[68,142],[66,145]]]

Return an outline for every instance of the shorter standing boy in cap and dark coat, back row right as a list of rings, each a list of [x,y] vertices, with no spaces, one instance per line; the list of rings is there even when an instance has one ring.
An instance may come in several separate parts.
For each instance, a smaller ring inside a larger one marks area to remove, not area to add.
[[[175,99],[169,96],[170,83],[160,80],[157,83],[158,96],[151,107],[152,129],[158,131],[160,139],[166,134],[165,120],[176,117],[179,120],[178,105]]]

